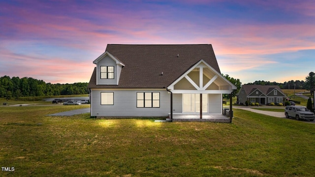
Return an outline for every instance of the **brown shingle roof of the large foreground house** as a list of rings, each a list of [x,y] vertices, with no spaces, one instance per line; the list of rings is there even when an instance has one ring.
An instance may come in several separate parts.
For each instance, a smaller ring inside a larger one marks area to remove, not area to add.
[[[166,88],[201,59],[221,73],[211,44],[108,44],[106,51],[125,64],[119,85],[96,85],[94,69],[88,88]]]

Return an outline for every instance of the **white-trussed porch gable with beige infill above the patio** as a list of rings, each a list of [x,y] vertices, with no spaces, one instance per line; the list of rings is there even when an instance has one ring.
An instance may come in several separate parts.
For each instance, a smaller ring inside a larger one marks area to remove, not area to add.
[[[167,89],[173,93],[229,94],[237,88],[201,59]]]

